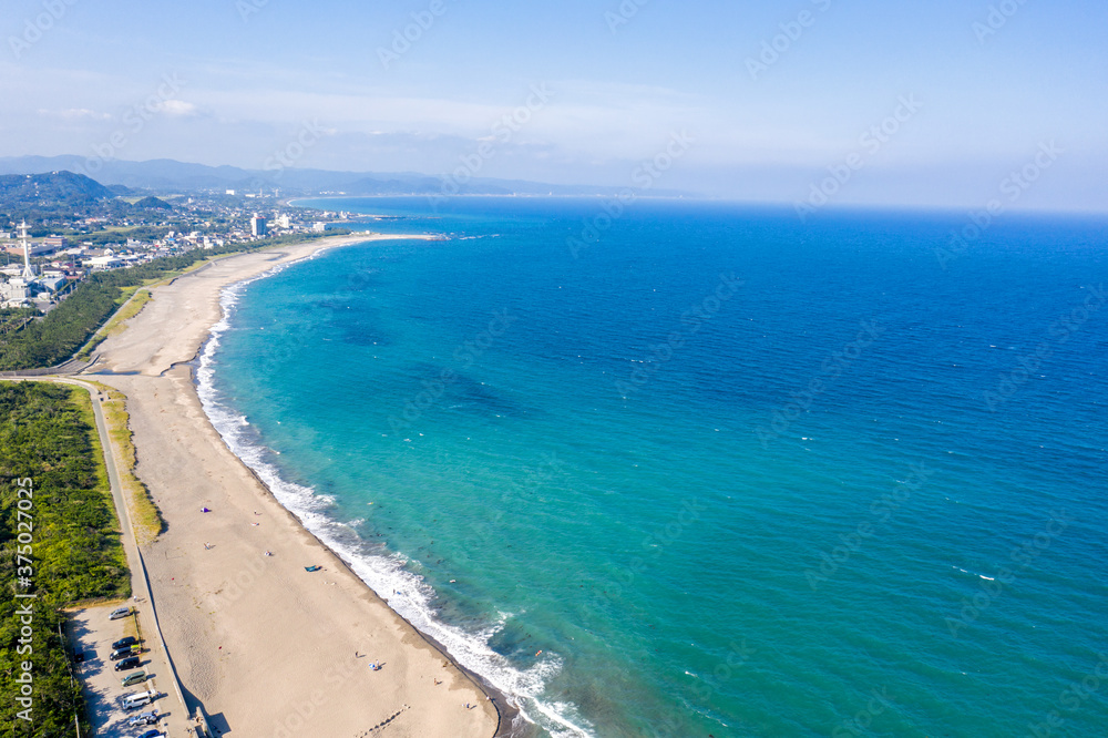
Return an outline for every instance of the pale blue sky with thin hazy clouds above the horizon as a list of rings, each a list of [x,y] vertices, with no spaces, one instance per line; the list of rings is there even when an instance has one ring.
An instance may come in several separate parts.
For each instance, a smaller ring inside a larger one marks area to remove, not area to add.
[[[309,124],[296,166],[440,175],[486,141],[481,176],[633,185],[684,133],[658,187],[803,202],[838,171],[835,203],[973,207],[1054,142],[1015,205],[1108,209],[1102,1],[6,6],[0,156],[261,168]]]

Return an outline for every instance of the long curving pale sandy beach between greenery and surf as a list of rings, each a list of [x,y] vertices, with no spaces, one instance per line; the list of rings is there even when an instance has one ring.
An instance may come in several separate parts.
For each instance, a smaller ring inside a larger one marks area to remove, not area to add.
[[[157,287],[85,372],[127,396],[137,474],[167,524],[143,549],[158,618],[186,700],[202,704],[220,735],[490,738],[497,730],[480,686],[230,453],[184,363],[222,318],[227,285],[324,246],[380,238],[392,236],[237,255]],[[312,564],[322,571],[306,572]]]

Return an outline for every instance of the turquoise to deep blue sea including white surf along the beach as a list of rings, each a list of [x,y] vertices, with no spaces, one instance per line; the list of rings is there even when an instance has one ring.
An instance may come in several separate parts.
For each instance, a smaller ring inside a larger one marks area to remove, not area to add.
[[[314,205],[208,412],[531,731],[1108,735],[1104,219]]]

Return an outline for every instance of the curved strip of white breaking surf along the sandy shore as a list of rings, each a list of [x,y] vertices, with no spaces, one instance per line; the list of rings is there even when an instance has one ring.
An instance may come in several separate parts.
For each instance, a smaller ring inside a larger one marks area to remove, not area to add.
[[[274,463],[273,451],[260,442],[249,421],[229,407],[215,387],[215,357],[220,338],[232,329],[235,308],[246,288],[261,279],[277,276],[294,265],[317,258],[325,250],[327,249],[319,248],[308,256],[284,262],[220,289],[222,317],[211,326],[207,339],[192,362],[195,367],[196,394],[206,417],[232,453],[298,525],[318,541],[319,545],[332,552],[398,617],[486,693],[500,716],[495,734],[497,737],[530,738],[537,735],[538,720],[529,715],[527,709],[545,718],[542,722],[554,736],[589,736],[587,729],[558,714],[556,706],[546,705],[540,699],[547,678],[561,670],[561,659],[555,657],[529,670],[520,670],[488,645],[502,622],[492,624],[480,633],[470,634],[439,619],[435,616],[435,592],[423,582],[423,577],[406,568],[407,557],[372,546],[347,524],[328,515],[331,502],[329,496],[317,494],[310,486],[284,479],[278,465]],[[525,703],[521,704],[521,700]]]

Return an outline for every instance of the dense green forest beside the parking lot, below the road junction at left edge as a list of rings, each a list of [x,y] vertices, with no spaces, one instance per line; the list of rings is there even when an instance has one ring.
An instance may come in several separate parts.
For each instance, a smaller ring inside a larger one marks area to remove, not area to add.
[[[2,738],[72,736],[75,717],[82,735],[90,735],[80,685],[59,637],[61,608],[131,594],[100,454],[86,392],[47,382],[0,382]],[[17,701],[24,662],[31,665],[30,721],[19,717],[23,706]]]

